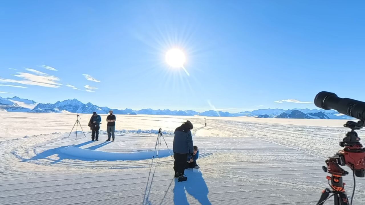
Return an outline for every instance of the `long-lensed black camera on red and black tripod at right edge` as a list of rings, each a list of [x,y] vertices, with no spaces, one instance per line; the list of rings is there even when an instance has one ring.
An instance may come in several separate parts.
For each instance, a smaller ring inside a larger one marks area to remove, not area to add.
[[[349,200],[345,192],[345,183],[343,183],[342,176],[349,174],[340,167],[348,166],[353,171],[354,179],[357,177],[365,177],[365,148],[360,143],[360,138],[356,130],[364,127],[365,122],[365,102],[353,100],[350,98],[340,98],[335,93],[320,92],[314,98],[314,104],[322,109],[334,109],[339,113],[358,119],[358,122],[347,121],[344,127],[350,128],[345,138],[339,143],[339,146],[344,147],[343,150],[338,151],[334,156],[329,157],[325,162],[327,166],[322,169],[331,174],[327,179],[331,181],[332,190],[326,188],[317,205],[323,205],[330,197],[335,196],[335,205],[348,205]],[[355,185],[354,185],[355,191]],[[329,194],[333,193],[330,197]],[[353,192],[354,194],[354,192]],[[353,197],[351,198],[352,204]]]

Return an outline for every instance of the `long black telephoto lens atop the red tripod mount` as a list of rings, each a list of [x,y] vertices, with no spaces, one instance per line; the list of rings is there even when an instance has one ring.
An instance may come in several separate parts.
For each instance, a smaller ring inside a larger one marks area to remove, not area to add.
[[[322,109],[334,109],[339,113],[365,121],[365,102],[338,97],[335,93],[320,92],[314,98],[314,104]]]

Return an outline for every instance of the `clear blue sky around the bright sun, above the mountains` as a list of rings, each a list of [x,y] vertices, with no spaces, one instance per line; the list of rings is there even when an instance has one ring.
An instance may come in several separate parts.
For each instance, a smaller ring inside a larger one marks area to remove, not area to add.
[[[301,102],[323,90],[365,101],[363,1],[0,4],[1,97],[229,112],[315,108]],[[171,48],[190,76],[166,64]]]

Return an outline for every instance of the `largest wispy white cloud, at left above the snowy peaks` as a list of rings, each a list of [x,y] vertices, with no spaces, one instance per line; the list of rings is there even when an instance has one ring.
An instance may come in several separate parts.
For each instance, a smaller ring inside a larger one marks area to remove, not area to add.
[[[40,73],[42,73],[42,72],[40,72]],[[0,77],[0,82],[19,83],[19,84],[23,84],[23,85],[37,85],[37,86],[43,86],[43,87],[49,87],[49,88],[61,88],[60,85],[62,85],[62,84],[57,82],[57,81],[60,81],[60,79],[58,77],[50,76],[46,73],[44,73],[44,74],[43,73],[40,74],[40,73],[32,74],[32,73],[20,72],[18,74],[12,75],[12,76],[22,78],[22,80],[13,80],[13,79],[7,79],[7,78]]]

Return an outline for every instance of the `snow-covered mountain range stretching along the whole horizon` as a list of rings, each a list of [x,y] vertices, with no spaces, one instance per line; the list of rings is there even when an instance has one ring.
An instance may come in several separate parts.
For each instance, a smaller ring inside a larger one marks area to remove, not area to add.
[[[8,112],[41,112],[41,113],[93,113],[107,114],[112,110],[117,115],[177,115],[177,116],[209,116],[209,117],[259,117],[259,118],[295,118],[295,119],[353,119],[349,116],[342,115],[334,110],[323,109],[258,109],[254,111],[244,111],[239,113],[229,113],[222,111],[205,111],[196,112],[187,111],[170,111],[141,109],[134,111],[132,109],[111,109],[108,107],[99,107],[91,102],[84,104],[77,99],[57,101],[54,104],[37,103],[32,100],[22,99],[19,97],[2,98],[0,97],[0,110]]]

